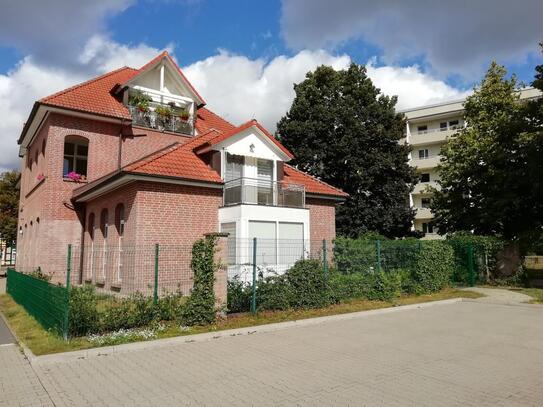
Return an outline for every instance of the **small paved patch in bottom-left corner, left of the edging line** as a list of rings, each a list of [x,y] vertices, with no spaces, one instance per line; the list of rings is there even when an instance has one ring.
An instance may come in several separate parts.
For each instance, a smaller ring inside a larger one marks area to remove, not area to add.
[[[53,406],[17,345],[0,346],[0,406]]]

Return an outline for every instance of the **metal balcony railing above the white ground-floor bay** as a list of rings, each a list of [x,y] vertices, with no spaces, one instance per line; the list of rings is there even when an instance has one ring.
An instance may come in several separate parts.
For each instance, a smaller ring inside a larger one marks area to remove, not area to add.
[[[237,178],[224,184],[224,206],[252,204],[305,207],[305,187],[256,178]]]

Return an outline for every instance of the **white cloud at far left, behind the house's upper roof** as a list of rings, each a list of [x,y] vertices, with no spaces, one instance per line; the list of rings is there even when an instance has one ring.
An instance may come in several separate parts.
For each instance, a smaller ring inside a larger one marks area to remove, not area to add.
[[[36,100],[125,65],[140,67],[159,52],[144,44],[131,47],[95,36],[75,64],[57,68],[27,56],[0,74],[0,171],[19,167],[17,139]]]

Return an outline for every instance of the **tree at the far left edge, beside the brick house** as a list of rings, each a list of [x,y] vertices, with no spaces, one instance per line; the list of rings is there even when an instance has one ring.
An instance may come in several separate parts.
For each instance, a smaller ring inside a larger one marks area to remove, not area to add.
[[[17,237],[19,208],[19,173],[4,172],[0,175],[0,238],[12,242]]]

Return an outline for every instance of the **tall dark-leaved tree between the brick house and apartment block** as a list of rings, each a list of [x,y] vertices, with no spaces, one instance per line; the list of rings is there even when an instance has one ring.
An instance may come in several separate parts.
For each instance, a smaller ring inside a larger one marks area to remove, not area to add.
[[[294,153],[294,165],[349,193],[338,207],[338,233],[407,235],[416,176],[409,147],[399,142],[405,122],[395,112],[397,98],[382,95],[356,64],[342,71],[321,66],[294,90],[277,138]]]

